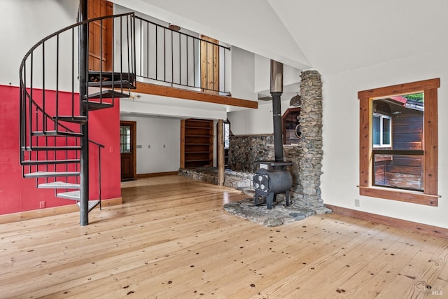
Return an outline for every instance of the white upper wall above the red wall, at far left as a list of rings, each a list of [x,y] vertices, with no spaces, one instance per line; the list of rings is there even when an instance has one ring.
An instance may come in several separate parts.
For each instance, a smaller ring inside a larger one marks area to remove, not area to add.
[[[0,37],[3,45],[0,47],[0,84],[19,85],[18,70],[27,51],[45,36],[76,23],[78,4],[77,0],[1,1]],[[64,48],[68,44],[66,40],[61,41],[59,45],[61,55],[71,53],[71,48]],[[55,70],[55,49],[55,43],[48,43],[45,47],[45,57],[48,59],[45,88],[54,88],[52,84],[55,83],[54,74],[50,75],[49,72]],[[37,55],[34,58],[36,62],[41,59]],[[64,57],[61,57],[61,60],[63,59]],[[36,66],[40,68],[41,64],[36,63]],[[71,71],[65,69],[66,67],[68,67],[66,64],[61,64],[62,69],[59,70],[60,74],[64,74],[59,78],[61,90],[71,90],[71,84],[67,82],[71,76],[66,76],[71,74]],[[34,86],[38,87],[41,85],[39,82],[41,71],[39,69],[35,71],[37,76],[34,76]]]

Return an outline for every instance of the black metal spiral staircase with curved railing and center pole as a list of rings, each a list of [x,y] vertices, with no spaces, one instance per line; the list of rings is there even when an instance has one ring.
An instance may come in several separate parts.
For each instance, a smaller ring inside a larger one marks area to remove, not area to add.
[[[76,200],[81,225],[88,224],[85,217],[89,211],[98,204],[101,208],[104,146],[88,139],[89,111],[110,108],[115,99],[129,97],[130,89],[135,88],[134,13],[85,20],[86,12],[86,5],[80,6],[82,22],[36,43],[20,65],[23,177],[36,179],[37,188],[55,189],[56,197]],[[111,67],[106,69],[101,62],[93,69],[87,49],[99,47],[102,61],[105,37],[101,30],[95,43],[88,33],[94,25],[103,28],[108,20],[112,20],[112,36],[117,43],[109,53]],[[97,151],[90,152],[89,144]],[[94,200],[89,197],[89,156],[97,162],[98,170],[98,195]]]

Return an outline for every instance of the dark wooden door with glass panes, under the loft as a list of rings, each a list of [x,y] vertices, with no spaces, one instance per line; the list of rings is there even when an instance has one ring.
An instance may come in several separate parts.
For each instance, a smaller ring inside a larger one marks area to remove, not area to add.
[[[120,122],[121,179],[133,179],[135,175],[135,127],[133,121]]]

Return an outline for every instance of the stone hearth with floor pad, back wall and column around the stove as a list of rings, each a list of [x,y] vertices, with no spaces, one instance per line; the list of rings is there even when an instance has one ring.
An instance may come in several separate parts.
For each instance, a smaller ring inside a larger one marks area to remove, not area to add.
[[[283,146],[285,162],[292,162],[288,171],[293,177],[290,189],[290,207],[284,207],[284,194],[277,195],[276,207],[267,210],[265,205],[253,204],[253,172],[258,169],[258,161],[274,160],[274,138],[272,134],[231,136],[229,167],[225,171],[224,185],[237,188],[248,195],[247,200],[232,202],[224,207],[230,214],[247,218],[256,223],[274,226],[299,220],[313,214],[330,213],[321,198],[322,168],[322,83],[318,71],[302,71],[300,75],[300,95],[302,105],[298,116],[300,139],[297,145]],[[218,183],[217,170],[181,169],[179,174]],[[265,223],[266,221],[266,223]]]

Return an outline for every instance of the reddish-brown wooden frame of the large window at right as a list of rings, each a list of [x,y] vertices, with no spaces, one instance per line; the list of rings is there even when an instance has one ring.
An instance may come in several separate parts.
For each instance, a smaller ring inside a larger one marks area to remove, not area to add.
[[[440,197],[437,195],[437,88],[440,88],[440,78],[391,85],[358,92],[360,105],[358,187],[360,195],[437,207],[438,197]],[[372,179],[373,100],[397,95],[409,95],[418,92],[423,92],[425,102],[425,110],[423,112],[423,192],[374,186]]]

